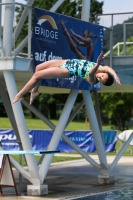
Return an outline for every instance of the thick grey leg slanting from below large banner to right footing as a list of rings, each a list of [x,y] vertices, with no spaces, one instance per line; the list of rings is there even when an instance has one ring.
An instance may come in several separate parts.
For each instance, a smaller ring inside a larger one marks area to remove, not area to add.
[[[96,115],[95,115],[95,111],[94,111],[94,107],[93,107],[93,103],[91,99],[91,94],[87,90],[83,90],[82,93],[83,93],[83,97],[85,101],[86,111],[89,117],[89,121],[91,124],[93,136],[94,136],[97,154],[99,156],[99,160],[101,164],[100,171],[103,175],[109,175],[105,147],[103,146],[102,138],[100,135],[98,124],[97,124],[97,119],[96,119]]]

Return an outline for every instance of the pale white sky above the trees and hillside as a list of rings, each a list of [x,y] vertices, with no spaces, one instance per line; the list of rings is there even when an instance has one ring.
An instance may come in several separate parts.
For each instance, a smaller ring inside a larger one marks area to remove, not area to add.
[[[133,12],[133,0],[98,0],[98,1],[104,2],[103,14]],[[4,2],[5,0],[2,0],[2,3]],[[26,3],[26,1],[24,0],[16,0],[15,2],[24,3],[24,4]],[[114,17],[114,24],[122,23],[124,20],[132,16],[133,14],[132,15],[117,15]],[[101,17],[100,25],[110,27],[111,17],[110,16]]]

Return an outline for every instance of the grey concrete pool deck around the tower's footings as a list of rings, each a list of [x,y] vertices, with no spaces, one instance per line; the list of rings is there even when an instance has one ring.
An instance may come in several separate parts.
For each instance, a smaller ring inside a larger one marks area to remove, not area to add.
[[[63,154],[64,155],[64,154]],[[68,156],[68,155],[67,155]],[[73,156],[73,155],[71,155]],[[75,155],[76,156],[76,155]],[[78,155],[77,155],[78,156]],[[97,155],[91,157],[99,163]],[[115,156],[107,156],[108,164],[111,164]],[[52,163],[44,184],[48,185],[48,195],[26,196],[26,185],[31,185],[23,178],[22,194],[16,196],[13,188],[3,188],[0,200],[22,199],[69,199],[99,192],[133,187],[133,157],[123,156],[112,175],[115,175],[115,183],[111,185],[99,185],[99,172],[95,170],[85,159]],[[18,186],[18,172],[14,170],[15,181]]]

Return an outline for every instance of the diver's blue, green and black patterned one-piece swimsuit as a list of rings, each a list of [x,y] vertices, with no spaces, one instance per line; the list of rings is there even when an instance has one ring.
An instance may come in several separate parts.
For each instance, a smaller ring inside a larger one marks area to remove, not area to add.
[[[87,78],[90,69],[96,63],[89,60],[69,59],[63,63],[60,67],[68,69],[70,77],[79,76],[80,78]]]

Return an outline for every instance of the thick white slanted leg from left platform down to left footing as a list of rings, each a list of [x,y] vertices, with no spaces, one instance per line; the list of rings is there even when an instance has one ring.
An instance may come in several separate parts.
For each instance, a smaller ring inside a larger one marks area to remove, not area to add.
[[[9,91],[9,96],[11,101],[13,100],[14,96],[16,95],[16,84],[14,81],[14,77],[12,77],[12,72],[6,72],[4,74],[5,76],[5,80],[6,80],[6,84],[7,84],[7,88]],[[14,116],[16,119],[16,123],[17,126],[19,127],[19,133],[20,133],[20,138],[23,144],[23,148],[24,149],[32,149],[31,146],[31,142],[29,139],[29,134],[28,134],[28,130],[27,130],[27,126],[26,126],[26,122],[25,122],[25,118],[24,118],[24,114],[23,114],[23,110],[21,107],[21,103],[17,102],[13,105],[13,112],[14,112]],[[38,168],[37,168],[37,164],[34,158],[34,155],[26,155],[26,159],[27,159],[27,164],[29,167],[29,171],[31,173],[31,182],[33,184],[40,184],[40,180],[39,180],[39,174],[38,174]],[[34,174],[34,176],[32,176]]]

